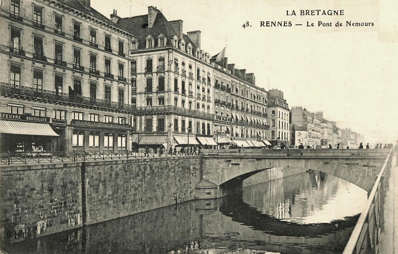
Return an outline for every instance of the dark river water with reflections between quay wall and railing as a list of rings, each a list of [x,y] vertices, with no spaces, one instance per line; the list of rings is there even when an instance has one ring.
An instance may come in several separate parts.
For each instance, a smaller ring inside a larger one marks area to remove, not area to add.
[[[82,229],[23,239],[8,253],[341,253],[367,192],[306,172]]]

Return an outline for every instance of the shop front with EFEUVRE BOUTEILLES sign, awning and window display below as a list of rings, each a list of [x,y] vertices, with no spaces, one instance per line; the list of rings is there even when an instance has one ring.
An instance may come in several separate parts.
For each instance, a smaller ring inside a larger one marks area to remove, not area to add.
[[[50,117],[0,113],[1,152],[50,152],[58,137]]]

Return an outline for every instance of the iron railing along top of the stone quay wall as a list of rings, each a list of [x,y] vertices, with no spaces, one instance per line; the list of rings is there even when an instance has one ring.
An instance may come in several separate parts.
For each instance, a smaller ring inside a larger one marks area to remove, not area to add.
[[[196,154],[192,154],[196,155]],[[2,152],[0,153],[0,165],[14,164],[41,164],[59,162],[79,162],[98,160],[121,160],[132,158],[156,158],[170,156],[189,156],[181,154],[169,154],[168,150],[150,149],[144,150],[92,150],[92,151],[53,151],[53,152]]]

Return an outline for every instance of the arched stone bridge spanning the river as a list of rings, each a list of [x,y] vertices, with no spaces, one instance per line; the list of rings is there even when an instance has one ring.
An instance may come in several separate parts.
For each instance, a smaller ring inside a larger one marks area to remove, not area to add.
[[[196,185],[196,196],[212,199],[236,193],[242,190],[245,179],[260,172],[265,180],[274,180],[307,170],[337,176],[369,192],[388,152],[387,149],[202,150],[201,181]]]

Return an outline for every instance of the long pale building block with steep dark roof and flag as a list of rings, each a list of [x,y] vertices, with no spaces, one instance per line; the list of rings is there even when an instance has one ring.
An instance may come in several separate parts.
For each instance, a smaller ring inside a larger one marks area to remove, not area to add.
[[[246,117],[252,112],[245,107],[242,114],[235,107],[249,105],[249,88],[264,102],[265,91],[254,88],[246,75],[235,76],[226,68],[226,58],[222,64],[211,61],[201,49],[201,31],[183,33],[182,20],[168,21],[153,6],[148,14],[117,17],[116,23],[135,35],[130,52],[131,102],[136,106],[133,144],[213,147],[217,141],[232,143],[230,137],[265,137],[260,131],[265,119],[254,125],[253,118]],[[266,107],[258,110],[266,112]]]

